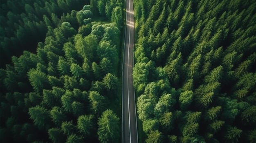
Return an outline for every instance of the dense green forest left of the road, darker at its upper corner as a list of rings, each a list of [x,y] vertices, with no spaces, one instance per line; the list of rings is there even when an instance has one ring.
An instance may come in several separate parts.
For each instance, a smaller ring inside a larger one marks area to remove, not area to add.
[[[120,142],[122,1],[0,2],[0,142]]]

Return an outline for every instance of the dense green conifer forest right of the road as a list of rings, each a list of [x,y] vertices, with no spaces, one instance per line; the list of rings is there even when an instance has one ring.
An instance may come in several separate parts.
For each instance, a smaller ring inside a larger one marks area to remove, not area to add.
[[[256,1],[134,0],[146,143],[256,142]]]

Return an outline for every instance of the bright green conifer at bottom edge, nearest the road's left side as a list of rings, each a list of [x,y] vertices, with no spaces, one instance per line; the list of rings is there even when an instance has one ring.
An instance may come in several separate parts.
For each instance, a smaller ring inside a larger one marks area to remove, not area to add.
[[[118,141],[119,139],[119,118],[112,110],[106,110],[98,120],[98,136],[101,143]]]

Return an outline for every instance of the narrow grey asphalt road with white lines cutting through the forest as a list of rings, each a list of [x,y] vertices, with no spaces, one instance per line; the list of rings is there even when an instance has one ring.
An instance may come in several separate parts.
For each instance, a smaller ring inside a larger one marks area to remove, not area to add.
[[[126,30],[122,72],[123,143],[138,143],[135,94],[132,79],[134,49],[134,12],[132,0],[126,0]]]

